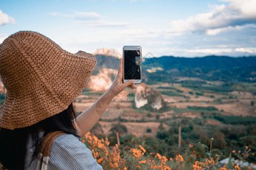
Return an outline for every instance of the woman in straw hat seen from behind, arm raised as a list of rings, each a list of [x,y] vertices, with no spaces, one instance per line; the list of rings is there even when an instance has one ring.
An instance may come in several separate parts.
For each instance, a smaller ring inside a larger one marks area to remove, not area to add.
[[[135,86],[134,80],[122,83],[120,59],[109,90],[75,118],[72,101],[95,66],[92,54],[69,53],[37,32],[20,31],[3,41],[0,75],[6,98],[0,108],[0,161],[5,168],[40,169],[44,137],[63,131],[52,143],[48,169],[102,169],[79,137],[97,123],[114,96]]]

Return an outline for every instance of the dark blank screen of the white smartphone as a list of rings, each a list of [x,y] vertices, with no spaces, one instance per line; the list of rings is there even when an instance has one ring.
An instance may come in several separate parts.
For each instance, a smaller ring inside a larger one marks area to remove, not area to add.
[[[141,52],[139,50],[125,50],[123,58],[125,79],[141,79]]]

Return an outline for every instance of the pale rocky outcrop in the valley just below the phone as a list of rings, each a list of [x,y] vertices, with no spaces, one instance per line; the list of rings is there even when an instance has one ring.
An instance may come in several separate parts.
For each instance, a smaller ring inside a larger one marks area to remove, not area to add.
[[[134,103],[137,108],[148,105],[153,110],[159,110],[163,107],[163,98],[160,92],[150,88],[144,83],[141,83],[135,90]]]

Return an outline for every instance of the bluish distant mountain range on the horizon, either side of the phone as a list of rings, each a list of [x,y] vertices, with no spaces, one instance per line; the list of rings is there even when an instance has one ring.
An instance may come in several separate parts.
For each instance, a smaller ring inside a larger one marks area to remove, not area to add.
[[[96,75],[101,68],[118,69],[119,59],[95,55]],[[143,78],[146,83],[175,82],[176,76],[199,77],[205,80],[256,82],[256,57],[207,56],[196,58],[163,56],[144,58]]]

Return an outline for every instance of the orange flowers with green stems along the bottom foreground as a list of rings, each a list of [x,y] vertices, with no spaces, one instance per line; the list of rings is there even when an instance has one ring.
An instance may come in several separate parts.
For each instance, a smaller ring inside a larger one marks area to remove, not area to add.
[[[204,151],[204,158],[197,156],[193,145],[189,144],[184,155],[176,155],[174,158],[167,159],[159,153],[147,153],[143,145],[129,148],[129,151],[121,151],[118,145],[109,146],[108,138],[98,139],[89,132],[81,138],[81,141],[92,150],[93,157],[104,169],[253,169],[253,167],[240,167],[239,164],[233,163],[218,167],[222,153],[212,150],[211,139],[210,149],[201,143],[199,146]],[[251,150],[246,146],[242,156],[249,156]],[[213,154],[213,152],[216,152]],[[233,154],[241,156],[241,151],[232,151]],[[253,155],[253,154],[251,154]],[[231,158],[231,156],[230,156]],[[231,167],[230,167],[231,166]]]

